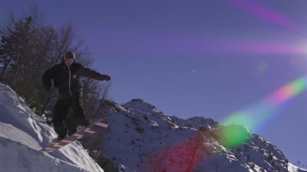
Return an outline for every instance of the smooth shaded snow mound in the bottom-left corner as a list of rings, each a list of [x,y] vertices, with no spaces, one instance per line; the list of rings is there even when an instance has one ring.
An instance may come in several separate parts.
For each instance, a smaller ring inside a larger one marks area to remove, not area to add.
[[[1,171],[86,171],[77,165],[4,137],[0,137],[0,152]]]

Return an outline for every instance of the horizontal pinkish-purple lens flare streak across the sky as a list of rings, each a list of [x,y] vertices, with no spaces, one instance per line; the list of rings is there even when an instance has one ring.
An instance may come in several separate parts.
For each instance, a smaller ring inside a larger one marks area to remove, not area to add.
[[[307,44],[287,40],[243,40],[196,35],[138,35],[116,41],[122,53],[145,55],[307,55]],[[144,44],[144,42],[146,42]],[[106,50],[118,53],[118,49]]]

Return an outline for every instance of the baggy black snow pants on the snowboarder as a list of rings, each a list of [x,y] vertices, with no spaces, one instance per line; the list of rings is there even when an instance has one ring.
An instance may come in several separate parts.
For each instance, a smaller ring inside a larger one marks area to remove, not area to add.
[[[69,109],[72,108],[74,116],[67,117]],[[83,109],[82,97],[78,94],[68,99],[60,99],[54,108],[53,126],[60,138],[74,134],[78,125],[88,126]]]

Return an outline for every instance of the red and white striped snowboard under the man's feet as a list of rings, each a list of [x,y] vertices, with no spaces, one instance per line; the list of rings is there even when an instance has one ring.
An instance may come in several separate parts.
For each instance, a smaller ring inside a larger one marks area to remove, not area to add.
[[[78,132],[76,132],[75,134],[72,134],[68,137],[65,137],[62,140],[59,140],[55,143],[53,143],[52,145],[45,147],[43,149],[41,149],[40,151],[43,152],[53,152],[55,150],[60,149],[61,147],[72,143],[73,141],[79,140],[85,136],[90,136],[96,132],[99,132],[101,130],[103,130],[104,128],[107,128],[109,125],[109,123],[103,119],[100,119],[97,123],[88,126],[87,128],[80,130]]]

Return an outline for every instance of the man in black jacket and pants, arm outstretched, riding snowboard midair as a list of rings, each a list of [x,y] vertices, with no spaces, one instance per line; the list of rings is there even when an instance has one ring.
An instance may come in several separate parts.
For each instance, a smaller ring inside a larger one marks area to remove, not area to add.
[[[96,80],[111,80],[111,77],[108,75],[98,73],[80,63],[76,63],[75,54],[71,51],[65,54],[61,63],[47,69],[42,75],[42,83],[46,91],[51,89],[53,79],[59,97],[54,108],[52,120],[58,138],[53,139],[53,142],[65,138],[68,134],[67,122],[65,120],[67,119],[70,107],[74,111],[74,122],[79,125],[76,130],[89,125],[82,105],[81,76]]]

